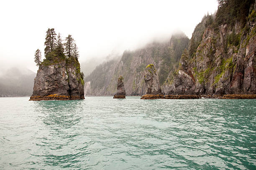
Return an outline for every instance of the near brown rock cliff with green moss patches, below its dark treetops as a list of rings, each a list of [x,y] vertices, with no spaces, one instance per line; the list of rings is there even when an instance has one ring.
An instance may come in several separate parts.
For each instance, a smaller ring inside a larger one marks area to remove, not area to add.
[[[170,83],[165,83],[165,94],[225,95],[256,93],[256,5],[251,5],[245,25],[236,20],[234,25],[224,22],[208,25],[202,40],[193,52],[195,29],[184,51],[179,69]],[[207,16],[202,23],[207,23]],[[197,36],[198,39],[198,36]],[[195,47],[195,46],[194,46]]]

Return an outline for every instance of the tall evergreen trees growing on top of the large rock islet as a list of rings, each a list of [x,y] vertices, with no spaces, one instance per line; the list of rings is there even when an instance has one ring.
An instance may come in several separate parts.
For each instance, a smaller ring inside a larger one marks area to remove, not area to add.
[[[41,51],[36,50],[34,59],[37,66],[41,63],[49,64],[58,59],[74,58],[77,60],[79,57],[79,51],[72,35],[68,35],[63,43],[60,33],[57,35],[54,28],[49,28],[46,31],[44,45],[45,59],[43,62],[41,62]]]

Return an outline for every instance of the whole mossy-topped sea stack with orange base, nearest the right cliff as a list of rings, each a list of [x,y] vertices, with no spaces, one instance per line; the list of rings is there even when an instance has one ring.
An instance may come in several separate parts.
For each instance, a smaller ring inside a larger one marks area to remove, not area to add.
[[[146,67],[144,80],[147,85],[146,95],[143,95],[141,99],[163,99],[164,95],[161,90],[161,86],[156,75],[156,69],[153,64],[149,64]]]

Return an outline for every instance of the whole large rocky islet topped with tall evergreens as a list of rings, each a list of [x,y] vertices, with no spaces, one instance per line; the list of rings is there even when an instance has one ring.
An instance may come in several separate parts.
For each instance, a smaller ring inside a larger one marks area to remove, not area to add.
[[[60,35],[56,45],[54,29],[46,32],[45,59],[36,51],[35,62],[39,69],[34,79],[30,100],[80,100],[84,99],[84,75],[80,71],[77,47],[69,35],[64,49]],[[74,51],[73,51],[74,50]]]

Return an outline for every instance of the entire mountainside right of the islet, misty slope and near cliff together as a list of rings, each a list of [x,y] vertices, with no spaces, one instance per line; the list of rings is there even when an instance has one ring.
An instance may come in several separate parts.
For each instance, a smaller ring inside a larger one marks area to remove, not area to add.
[[[128,95],[143,95],[143,70],[151,63],[167,95],[256,93],[255,0],[218,2],[218,11],[202,18],[190,40],[173,35],[168,43],[125,51],[120,60],[98,66],[86,77],[87,95],[112,95],[118,75],[125,77]]]

